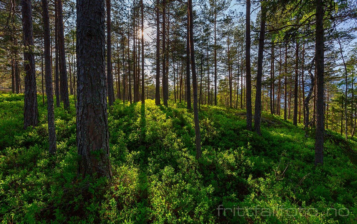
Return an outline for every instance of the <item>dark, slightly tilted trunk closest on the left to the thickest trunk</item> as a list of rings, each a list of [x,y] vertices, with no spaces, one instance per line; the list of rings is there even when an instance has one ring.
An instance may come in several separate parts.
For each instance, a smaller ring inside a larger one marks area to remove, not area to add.
[[[69,110],[69,96],[68,96],[68,80],[66,68],[66,53],[65,53],[65,35],[63,27],[63,13],[62,13],[62,0],[55,0],[57,4],[58,16],[58,53],[59,53],[59,66],[60,66],[60,95],[63,106]]]

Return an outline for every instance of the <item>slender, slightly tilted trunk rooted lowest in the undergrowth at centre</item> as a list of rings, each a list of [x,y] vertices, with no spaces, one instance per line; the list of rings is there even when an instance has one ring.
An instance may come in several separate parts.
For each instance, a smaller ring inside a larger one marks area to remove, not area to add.
[[[196,142],[196,159],[202,156],[201,152],[201,134],[200,124],[198,121],[198,108],[197,108],[197,76],[195,64],[195,50],[193,47],[193,18],[192,18],[192,0],[188,0],[188,18],[190,21],[190,53],[191,53],[191,70],[192,70],[192,88],[193,88],[193,116],[195,121],[195,142]]]

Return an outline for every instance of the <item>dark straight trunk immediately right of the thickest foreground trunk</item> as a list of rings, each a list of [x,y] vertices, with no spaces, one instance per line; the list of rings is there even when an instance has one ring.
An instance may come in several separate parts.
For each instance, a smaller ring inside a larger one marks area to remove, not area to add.
[[[114,98],[114,83],[113,83],[113,73],[111,64],[111,5],[110,0],[106,0],[107,6],[107,88],[108,88],[108,104],[113,105]]]

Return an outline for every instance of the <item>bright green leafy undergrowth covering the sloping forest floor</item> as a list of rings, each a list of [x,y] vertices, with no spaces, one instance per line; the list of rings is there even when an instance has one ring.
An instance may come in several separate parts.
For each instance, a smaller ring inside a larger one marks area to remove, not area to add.
[[[357,223],[353,155],[326,139],[315,168],[313,131],[306,138],[302,125],[262,113],[258,136],[245,130],[245,111],[201,105],[197,161],[183,103],[117,100],[108,114],[114,176],[78,179],[73,97],[69,113],[55,108],[56,156],[38,102],[39,125],[23,130],[24,95],[0,94],[1,223]],[[345,145],[355,152],[356,142]]]

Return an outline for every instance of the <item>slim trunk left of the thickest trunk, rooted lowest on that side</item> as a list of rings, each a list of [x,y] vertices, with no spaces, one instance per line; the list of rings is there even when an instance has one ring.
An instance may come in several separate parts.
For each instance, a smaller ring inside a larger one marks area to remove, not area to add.
[[[45,83],[47,95],[47,122],[49,151],[51,154],[56,153],[56,131],[55,131],[55,114],[52,87],[52,68],[51,68],[51,40],[50,40],[50,17],[48,12],[48,0],[42,0],[42,19],[44,22],[44,55],[45,55]]]

